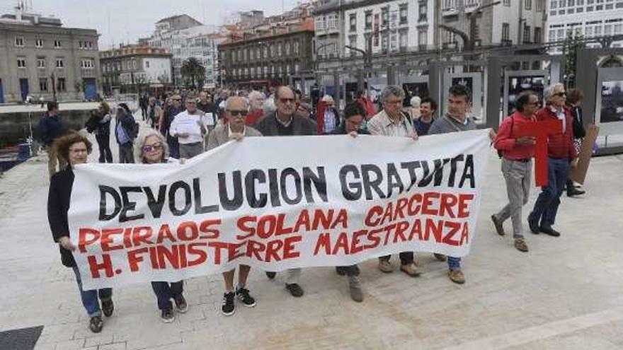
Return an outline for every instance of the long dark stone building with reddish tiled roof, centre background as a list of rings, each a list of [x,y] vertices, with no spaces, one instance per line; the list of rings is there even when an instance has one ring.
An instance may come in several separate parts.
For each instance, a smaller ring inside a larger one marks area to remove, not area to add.
[[[314,21],[307,18],[219,45],[224,84],[276,85],[292,76],[311,74]]]

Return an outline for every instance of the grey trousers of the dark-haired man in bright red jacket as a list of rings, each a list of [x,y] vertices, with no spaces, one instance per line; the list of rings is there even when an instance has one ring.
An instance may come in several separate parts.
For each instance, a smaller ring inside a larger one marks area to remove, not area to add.
[[[502,158],[502,174],[506,180],[508,204],[497,214],[500,221],[510,217],[513,222],[513,238],[523,238],[521,207],[530,197],[530,179],[532,178],[532,161],[510,161]]]

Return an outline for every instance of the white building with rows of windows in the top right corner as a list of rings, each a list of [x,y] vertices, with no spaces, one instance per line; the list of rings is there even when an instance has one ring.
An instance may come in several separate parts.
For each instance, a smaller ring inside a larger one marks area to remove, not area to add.
[[[548,42],[562,42],[574,36],[623,35],[623,0],[549,0],[547,5]],[[623,41],[614,41],[611,45],[622,47]],[[560,52],[560,48],[554,52]]]

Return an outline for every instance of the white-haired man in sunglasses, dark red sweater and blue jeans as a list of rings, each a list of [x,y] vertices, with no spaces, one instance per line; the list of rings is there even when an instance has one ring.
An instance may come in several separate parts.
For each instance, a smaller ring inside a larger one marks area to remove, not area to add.
[[[565,186],[569,167],[578,165],[578,153],[573,146],[573,117],[565,106],[565,90],[561,83],[545,89],[546,106],[537,112],[538,120],[561,120],[562,132],[549,135],[547,139],[547,186],[541,187],[541,193],[535,202],[535,208],[528,216],[528,225],[532,233],[546,233],[558,237],[560,233],[551,226],[556,221],[560,205],[560,196]]]

